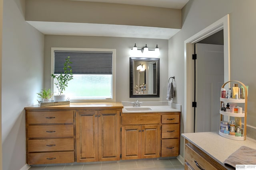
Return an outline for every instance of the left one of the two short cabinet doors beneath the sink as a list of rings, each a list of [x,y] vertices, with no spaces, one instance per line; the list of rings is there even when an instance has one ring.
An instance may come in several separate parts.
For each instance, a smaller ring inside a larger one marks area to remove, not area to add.
[[[141,158],[141,126],[122,126],[122,160]]]

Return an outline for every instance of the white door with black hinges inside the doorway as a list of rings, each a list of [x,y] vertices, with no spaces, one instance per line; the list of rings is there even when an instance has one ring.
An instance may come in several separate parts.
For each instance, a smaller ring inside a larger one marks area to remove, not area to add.
[[[220,88],[224,83],[223,45],[196,43],[195,132],[218,131]]]

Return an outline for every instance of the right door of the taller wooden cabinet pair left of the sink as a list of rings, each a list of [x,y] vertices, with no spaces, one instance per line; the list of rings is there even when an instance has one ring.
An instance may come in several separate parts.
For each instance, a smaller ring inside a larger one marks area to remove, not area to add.
[[[120,159],[119,111],[98,112],[99,161]]]

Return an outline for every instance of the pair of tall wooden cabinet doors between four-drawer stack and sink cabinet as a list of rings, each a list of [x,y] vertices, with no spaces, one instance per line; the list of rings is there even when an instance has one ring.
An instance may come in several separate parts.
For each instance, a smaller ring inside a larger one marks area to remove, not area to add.
[[[76,111],[76,162],[120,159],[120,109]]]

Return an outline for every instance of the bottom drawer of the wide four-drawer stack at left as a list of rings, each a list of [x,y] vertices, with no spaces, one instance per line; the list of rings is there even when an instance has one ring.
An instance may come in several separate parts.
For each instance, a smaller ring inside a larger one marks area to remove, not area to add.
[[[29,153],[28,164],[60,164],[74,162],[74,152]]]

